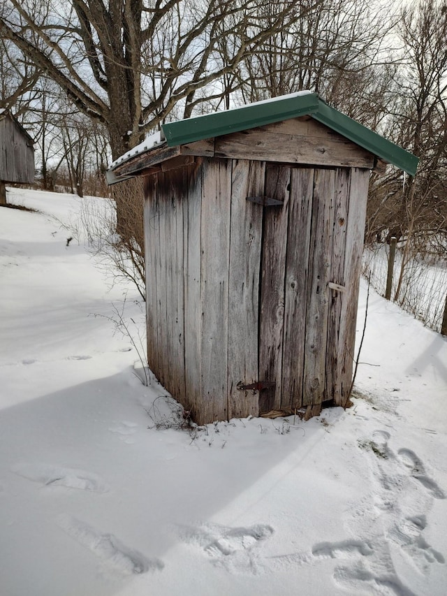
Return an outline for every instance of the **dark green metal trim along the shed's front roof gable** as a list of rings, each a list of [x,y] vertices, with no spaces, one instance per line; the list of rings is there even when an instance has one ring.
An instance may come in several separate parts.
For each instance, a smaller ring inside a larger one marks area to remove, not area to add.
[[[166,142],[172,147],[305,115],[349,138],[380,159],[393,163],[409,175],[416,174],[419,161],[416,156],[331,108],[318,94],[311,92],[298,92],[251,103],[242,108],[179,120],[163,124],[162,128]]]

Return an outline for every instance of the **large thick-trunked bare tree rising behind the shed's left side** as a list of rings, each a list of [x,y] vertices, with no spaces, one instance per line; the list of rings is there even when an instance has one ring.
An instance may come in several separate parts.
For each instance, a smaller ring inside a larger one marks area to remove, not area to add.
[[[318,1],[282,1],[265,29],[265,0],[6,0],[0,30],[107,125],[115,159]]]

